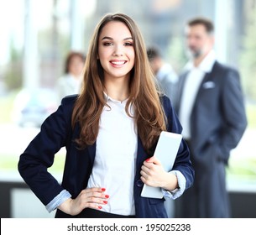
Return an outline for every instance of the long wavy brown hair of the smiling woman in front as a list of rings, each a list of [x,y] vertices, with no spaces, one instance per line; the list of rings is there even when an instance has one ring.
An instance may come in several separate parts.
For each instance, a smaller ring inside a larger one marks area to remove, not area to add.
[[[131,117],[128,107],[133,104],[135,108],[133,118],[138,128],[138,136],[144,149],[149,151],[157,141],[159,133],[166,129],[165,112],[159,100],[159,92],[149,65],[144,39],[133,19],[123,13],[105,15],[92,35],[86,56],[83,86],[72,115],[72,127],[74,128],[77,122],[81,126],[80,137],[76,139],[76,143],[81,148],[95,143],[102,108],[107,105],[103,93],[103,69],[97,60],[97,55],[99,34],[102,28],[111,21],[124,23],[132,34],[135,62],[129,81],[130,94],[125,110]]]

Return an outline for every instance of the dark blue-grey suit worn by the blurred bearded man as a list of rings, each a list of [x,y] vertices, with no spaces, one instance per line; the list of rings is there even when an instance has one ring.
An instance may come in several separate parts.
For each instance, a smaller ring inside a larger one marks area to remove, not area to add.
[[[180,102],[187,72],[180,76]],[[180,103],[175,104],[179,114]],[[238,71],[217,61],[201,82],[190,118],[193,187],[177,201],[177,217],[230,217],[225,167],[247,126]]]

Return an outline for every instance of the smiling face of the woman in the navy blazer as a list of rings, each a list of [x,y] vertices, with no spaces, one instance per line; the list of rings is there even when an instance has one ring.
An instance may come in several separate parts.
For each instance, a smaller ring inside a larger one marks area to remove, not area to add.
[[[128,27],[119,21],[107,23],[99,35],[98,59],[104,70],[104,80],[128,80],[135,54],[133,38]]]

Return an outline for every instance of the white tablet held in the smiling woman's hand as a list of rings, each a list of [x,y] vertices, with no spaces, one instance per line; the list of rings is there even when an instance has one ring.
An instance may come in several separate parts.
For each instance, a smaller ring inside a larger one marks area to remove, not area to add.
[[[180,148],[182,135],[179,133],[162,132],[154,151],[154,157],[159,159],[165,171],[172,170],[176,155]],[[141,196],[151,198],[162,198],[163,192],[159,187],[144,185]]]

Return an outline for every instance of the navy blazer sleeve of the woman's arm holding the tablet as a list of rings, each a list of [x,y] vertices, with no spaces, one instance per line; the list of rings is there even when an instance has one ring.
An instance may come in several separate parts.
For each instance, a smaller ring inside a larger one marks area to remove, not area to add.
[[[162,97],[162,104],[167,118],[167,131],[172,133],[181,133],[182,127],[175,109],[171,105],[170,99],[168,97]],[[195,171],[191,164],[190,150],[183,138],[172,170],[178,170],[182,175],[184,175],[185,189],[188,189],[193,185]]]

